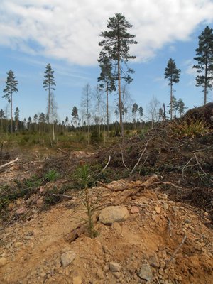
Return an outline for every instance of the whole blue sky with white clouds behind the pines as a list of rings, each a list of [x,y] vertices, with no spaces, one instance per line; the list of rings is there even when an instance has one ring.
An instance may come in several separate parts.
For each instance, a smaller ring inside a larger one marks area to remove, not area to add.
[[[72,3],[71,3],[72,2]],[[128,91],[129,105],[136,102],[145,113],[155,96],[169,103],[168,82],[164,70],[170,58],[180,68],[175,97],[186,107],[200,106],[203,94],[195,87],[192,70],[198,35],[208,25],[213,28],[213,1],[210,0],[1,0],[0,7],[0,89],[3,94],[6,72],[13,70],[18,93],[13,109],[21,119],[46,112],[47,92],[43,89],[45,66],[55,71],[55,101],[60,121],[71,119],[72,107],[80,109],[82,89],[97,84],[99,76],[99,33],[107,29],[107,20],[121,12],[133,24],[131,33],[138,45],[131,48],[137,59],[130,62],[135,70]],[[2,96],[1,96],[2,97]],[[6,100],[0,97],[0,109]],[[114,112],[116,94],[111,94]],[[213,101],[209,92],[208,102]],[[131,109],[129,109],[131,113]],[[9,114],[10,116],[10,114]],[[113,118],[112,118],[113,119]]]

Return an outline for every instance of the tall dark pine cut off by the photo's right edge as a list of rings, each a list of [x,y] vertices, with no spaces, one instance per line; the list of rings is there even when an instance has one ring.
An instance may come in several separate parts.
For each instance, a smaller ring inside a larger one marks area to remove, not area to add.
[[[196,86],[202,87],[204,92],[204,104],[207,103],[208,89],[213,87],[213,30],[208,26],[198,37],[199,43],[196,51],[197,69]]]

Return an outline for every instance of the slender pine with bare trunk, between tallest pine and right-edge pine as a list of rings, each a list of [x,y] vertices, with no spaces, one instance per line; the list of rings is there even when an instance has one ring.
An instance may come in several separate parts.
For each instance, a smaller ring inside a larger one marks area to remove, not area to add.
[[[165,68],[165,79],[168,79],[170,86],[170,119],[173,119],[173,83],[178,83],[180,80],[180,69],[177,69],[175,60],[170,58]]]

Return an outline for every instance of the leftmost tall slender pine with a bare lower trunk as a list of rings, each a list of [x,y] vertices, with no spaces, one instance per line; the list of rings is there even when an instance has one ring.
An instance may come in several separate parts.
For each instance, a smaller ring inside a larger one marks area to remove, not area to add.
[[[6,87],[3,91],[5,94],[2,97],[7,99],[7,101],[11,104],[11,133],[13,133],[13,93],[18,92],[18,81],[16,80],[12,70],[9,70],[6,74],[8,76],[6,78]]]

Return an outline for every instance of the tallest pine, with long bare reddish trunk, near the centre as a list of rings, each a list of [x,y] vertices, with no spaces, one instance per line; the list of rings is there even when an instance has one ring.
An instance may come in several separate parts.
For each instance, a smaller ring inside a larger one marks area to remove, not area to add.
[[[126,21],[126,18],[122,13],[116,13],[114,17],[109,18],[107,28],[109,31],[104,31],[101,36],[104,38],[99,43],[102,46],[103,52],[107,54],[110,60],[116,63],[116,80],[118,81],[119,90],[119,115],[120,115],[120,129],[121,137],[124,138],[124,123],[122,119],[122,101],[121,101],[121,80],[125,80],[130,83],[133,79],[129,74],[133,73],[131,68],[127,67],[124,71],[122,63],[126,65],[129,59],[136,58],[135,56],[129,55],[129,49],[131,44],[136,44],[135,35],[131,35],[127,32],[132,25]]]

